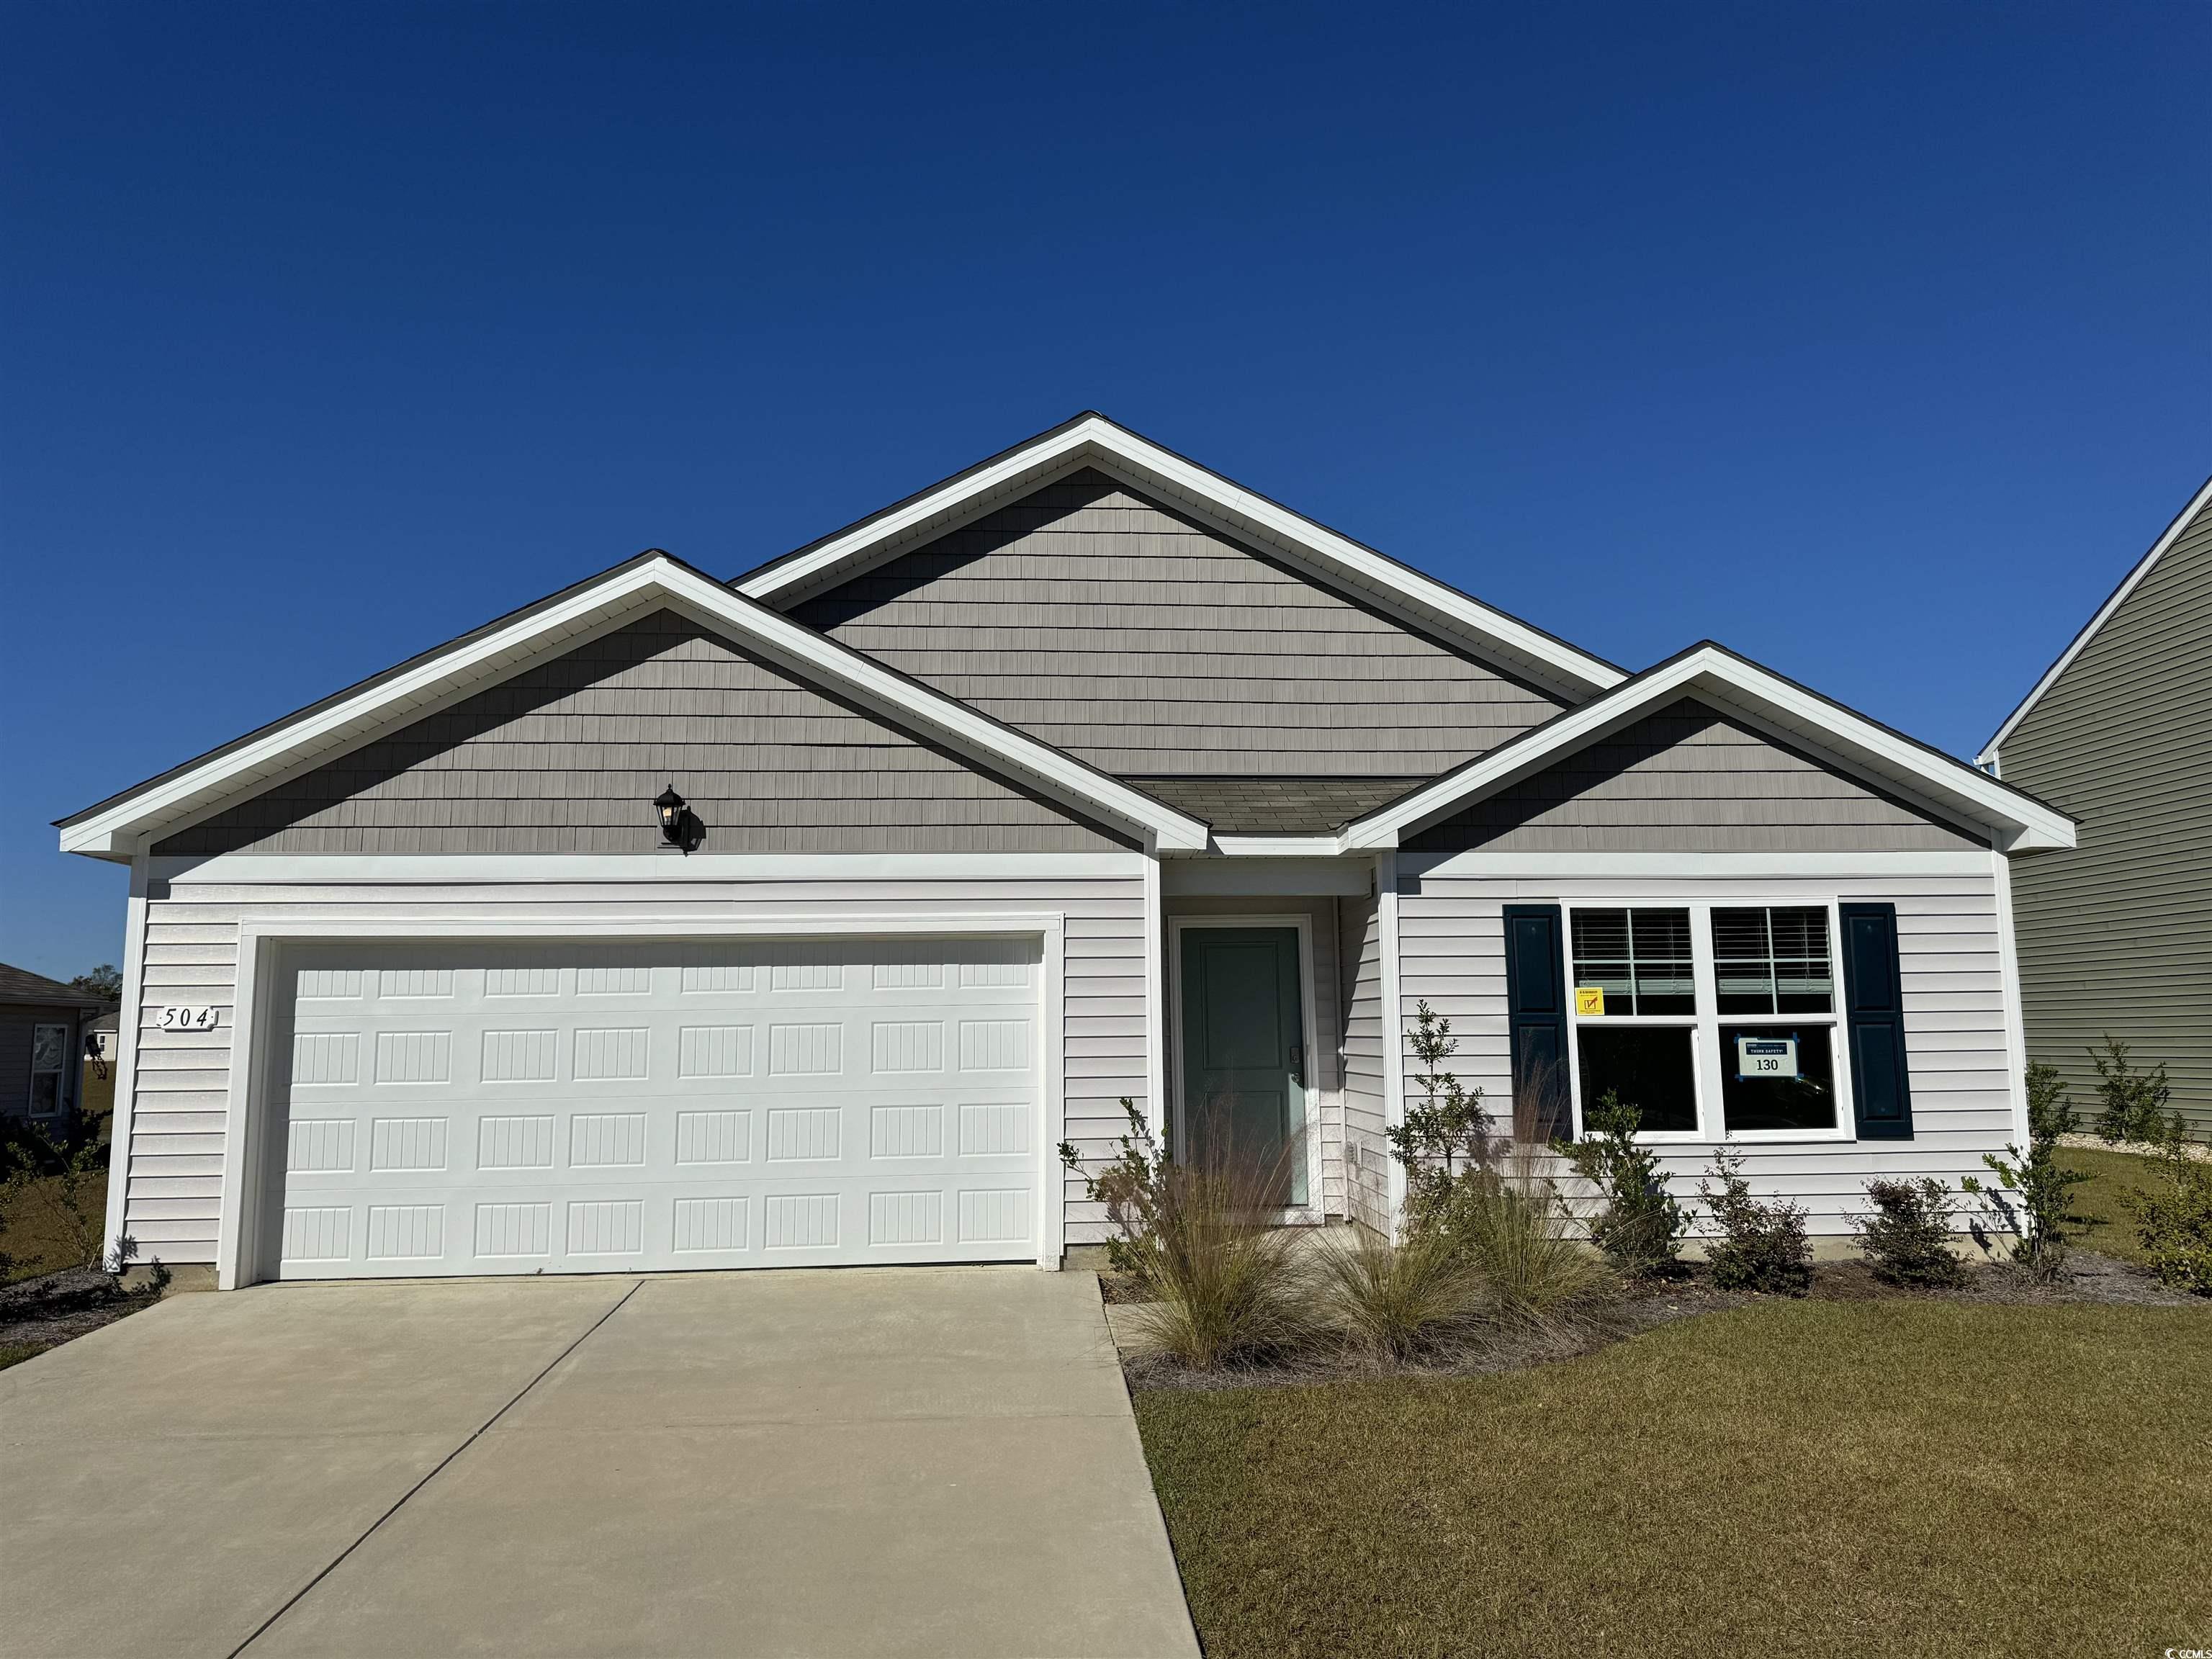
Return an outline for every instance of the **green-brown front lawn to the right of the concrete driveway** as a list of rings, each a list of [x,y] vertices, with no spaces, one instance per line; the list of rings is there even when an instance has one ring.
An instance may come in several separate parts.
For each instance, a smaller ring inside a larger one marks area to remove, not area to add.
[[[2212,1644],[2212,1310],[1756,1303],[1137,1422],[1210,1659]]]

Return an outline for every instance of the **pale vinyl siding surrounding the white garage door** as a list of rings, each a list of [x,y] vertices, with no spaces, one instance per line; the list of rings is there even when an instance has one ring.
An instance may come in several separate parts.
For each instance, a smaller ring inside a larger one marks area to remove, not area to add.
[[[122,1164],[124,1232],[142,1259],[212,1263],[221,1221],[223,1130],[232,1102],[230,1040],[237,1024],[239,925],[246,916],[270,922],[345,922],[389,927],[405,938],[425,922],[611,925],[637,914],[670,922],[712,922],[743,916],[900,914],[1060,914],[1066,918],[1066,975],[1062,987],[1060,1073],[1066,1093],[1066,1135],[1104,1152],[1121,1133],[1119,1097],[1146,1099],[1144,1064],[1144,883],[1128,876],[1006,876],[978,878],[852,878],[852,880],[655,880],[655,883],[201,883],[188,874],[157,885],[146,902],[144,971],[139,980],[139,1051],[133,1086],[131,1146]],[[854,931],[867,931],[856,925]],[[515,958],[515,973],[531,964]],[[522,995],[520,980],[507,987]],[[487,987],[487,993],[491,987]],[[215,1004],[212,1031],[161,1031],[161,1006]],[[595,1006],[619,1009],[608,995]],[[511,1060],[524,1073],[533,1060],[529,1018],[500,1022],[511,1031]],[[602,1022],[617,1029],[617,1018]],[[487,1035],[487,1042],[491,1037]],[[761,1064],[770,1064],[763,1040]],[[469,1055],[473,1062],[476,1055]],[[372,1051],[358,1051],[367,1071]],[[425,1060],[427,1064],[427,1060]],[[524,1084],[518,1084],[524,1086]],[[515,1157],[538,1150],[529,1124],[500,1130]],[[549,1130],[551,1133],[551,1130]],[[564,1155],[551,1146],[546,1155]],[[1099,1237],[1095,1217],[1071,1183],[1068,1243]],[[803,1225],[803,1217],[787,1217]],[[513,1223],[520,1225],[520,1219]]]

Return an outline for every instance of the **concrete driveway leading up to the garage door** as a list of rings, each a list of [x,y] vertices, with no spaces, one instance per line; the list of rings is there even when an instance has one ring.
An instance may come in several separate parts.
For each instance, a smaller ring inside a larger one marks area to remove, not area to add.
[[[0,1371],[0,1650],[1194,1655],[1088,1274],[268,1285]]]

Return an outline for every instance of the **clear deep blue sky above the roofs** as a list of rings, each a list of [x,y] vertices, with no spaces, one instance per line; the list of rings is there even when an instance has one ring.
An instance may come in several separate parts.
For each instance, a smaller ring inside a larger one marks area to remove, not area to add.
[[[119,958],[49,818],[1084,407],[1971,754],[2212,471],[2208,58],[2104,0],[7,7],[0,960]]]

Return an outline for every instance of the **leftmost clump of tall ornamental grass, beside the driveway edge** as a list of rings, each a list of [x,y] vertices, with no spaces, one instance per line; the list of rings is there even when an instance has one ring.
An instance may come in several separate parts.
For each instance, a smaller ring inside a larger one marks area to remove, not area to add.
[[[1060,1161],[1106,1208],[1106,1254],[1150,1301],[1130,1323],[1192,1369],[1290,1354],[1323,1329],[1298,1230],[1274,1225],[1292,1141],[1267,1164],[1217,1157],[1201,1166],[1164,1157],[1128,1099],[1128,1133],[1102,1170],[1086,1170],[1062,1141]]]

